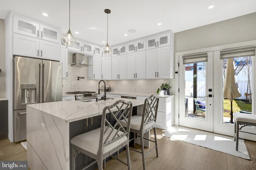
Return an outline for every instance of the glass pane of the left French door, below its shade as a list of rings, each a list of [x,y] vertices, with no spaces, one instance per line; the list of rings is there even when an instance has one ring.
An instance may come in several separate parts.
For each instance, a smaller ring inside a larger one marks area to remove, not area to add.
[[[205,120],[206,65],[192,63],[185,66],[185,116]]]

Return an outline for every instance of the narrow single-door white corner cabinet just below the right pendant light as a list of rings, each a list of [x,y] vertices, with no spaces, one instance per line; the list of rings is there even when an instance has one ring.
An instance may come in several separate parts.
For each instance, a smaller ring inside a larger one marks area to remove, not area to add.
[[[101,78],[111,80],[111,57],[101,57]]]

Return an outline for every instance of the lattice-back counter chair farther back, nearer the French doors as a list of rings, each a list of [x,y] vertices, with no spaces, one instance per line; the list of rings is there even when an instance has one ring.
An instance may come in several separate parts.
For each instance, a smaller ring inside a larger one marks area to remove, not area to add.
[[[132,119],[131,119],[130,131],[134,133],[134,138],[130,139],[130,141],[133,140],[134,146],[135,146],[135,138],[140,137],[141,151],[133,148],[130,148],[130,149],[142,154],[143,170],[146,170],[145,157],[150,152],[152,152],[152,150],[156,149],[156,157],[158,157],[158,147],[157,147],[157,140],[156,140],[156,116],[157,116],[157,110],[158,110],[158,102],[159,102],[159,98],[155,95],[152,95],[149,98],[146,98],[144,102],[143,112],[141,114],[142,116],[134,115],[132,116]],[[120,122],[124,127],[128,127],[124,119],[121,120]],[[147,133],[151,129],[154,129],[154,141],[144,138],[144,133]],[[140,136],[138,136],[137,134],[139,134]],[[148,141],[155,143],[155,146],[152,149],[150,149],[146,154],[144,153],[143,139],[146,139]]]

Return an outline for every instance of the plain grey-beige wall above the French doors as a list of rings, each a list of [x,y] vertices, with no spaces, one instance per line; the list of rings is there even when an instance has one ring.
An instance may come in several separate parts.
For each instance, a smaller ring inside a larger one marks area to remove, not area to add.
[[[256,40],[256,12],[174,34],[174,52]]]

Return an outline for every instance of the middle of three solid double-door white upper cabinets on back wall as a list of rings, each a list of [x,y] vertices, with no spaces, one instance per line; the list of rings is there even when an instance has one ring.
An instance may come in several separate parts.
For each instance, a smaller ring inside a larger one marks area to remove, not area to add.
[[[127,54],[127,79],[146,78],[146,51]]]

